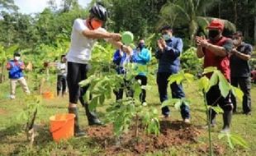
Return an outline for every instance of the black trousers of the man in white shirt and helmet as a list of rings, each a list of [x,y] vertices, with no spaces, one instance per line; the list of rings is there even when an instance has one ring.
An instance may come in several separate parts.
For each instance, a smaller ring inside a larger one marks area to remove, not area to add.
[[[89,70],[88,64],[68,62],[68,87],[69,87],[69,103],[78,103],[78,99],[82,98],[86,93],[88,86],[80,87],[78,83],[87,79]]]

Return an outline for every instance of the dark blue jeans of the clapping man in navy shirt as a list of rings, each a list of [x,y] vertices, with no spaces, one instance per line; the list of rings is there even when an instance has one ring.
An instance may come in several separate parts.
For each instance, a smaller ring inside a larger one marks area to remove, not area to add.
[[[158,72],[157,74],[157,83],[159,86],[159,97],[161,103],[168,99],[167,87],[168,87],[168,77],[171,76],[172,73],[168,72]],[[176,82],[170,85],[171,93],[173,99],[183,99],[185,98],[185,94],[183,92],[183,85],[178,85]],[[162,114],[164,116],[169,115],[170,110],[168,106],[162,108]],[[190,118],[189,107],[184,103],[181,105],[181,115],[183,119]]]

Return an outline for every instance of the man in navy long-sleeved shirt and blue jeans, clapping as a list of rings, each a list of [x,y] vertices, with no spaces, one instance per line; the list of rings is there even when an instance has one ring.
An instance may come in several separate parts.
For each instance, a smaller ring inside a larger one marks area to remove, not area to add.
[[[162,39],[158,40],[158,47],[155,57],[159,59],[159,69],[157,73],[157,84],[159,87],[160,101],[163,103],[168,99],[168,77],[176,74],[179,71],[180,59],[179,56],[183,52],[183,40],[173,36],[173,30],[170,26],[164,26],[161,30],[163,35]],[[172,98],[183,99],[185,94],[183,86],[178,85],[176,82],[170,85]],[[166,106],[162,108],[164,117],[168,117],[170,113],[169,108]],[[184,103],[181,106],[181,115],[183,122],[190,122],[190,112],[187,105]]]

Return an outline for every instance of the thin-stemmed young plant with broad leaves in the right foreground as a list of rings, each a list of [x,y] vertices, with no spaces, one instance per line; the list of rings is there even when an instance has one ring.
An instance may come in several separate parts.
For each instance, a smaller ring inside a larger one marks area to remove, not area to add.
[[[214,110],[216,113],[222,113],[223,110],[220,107],[215,107],[215,104],[212,106],[208,106],[206,102],[206,93],[209,91],[211,86],[219,85],[221,96],[226,97],[230,92],[234,94],[238,99],[243,99],[243,92],[230,85],[230,83],[225,79],[225,76],[222,75],[220,71],[216,69],[216,67],[207,67],[203,74],[212,73],[211,79],[209,80],[206,76],[202,76],[198,80],[198,89],[203,93],[204,106],[206,108],[207,114],[207,126],[208,126],[208,139],[209,139],[209,154],[213,155],[213,147],[212,147],[212,139],[211,139],[211,112]],[[168,84],[172,84],[176,82],[181,84],[183,81],[187,80],[188,83],[196,82],[195,77],[191,74],[184,73],[184,71],[180,71],[177,74],[173,74],[168,78]],[[189,104],[190,102],[187,99],[168,99],[162,103],[162,107],[164,106],[174,106],[175,108],[180,108],[181,104]],[[248,148],[246,142],[239,135],[230,135],[229,133],[220,134],[219,138],[222,139],[224,136],[227,137],[230,148],[234,148],[234,145],[241,145],[242,147]]]

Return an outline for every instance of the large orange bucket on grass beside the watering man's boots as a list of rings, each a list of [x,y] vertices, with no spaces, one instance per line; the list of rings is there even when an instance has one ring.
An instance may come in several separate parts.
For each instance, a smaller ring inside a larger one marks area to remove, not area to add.
[[[50,132],[56,142],[73,136],[74,114],[56,114],[50,117]]]

